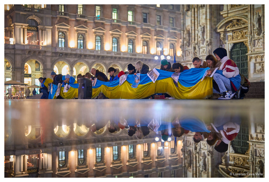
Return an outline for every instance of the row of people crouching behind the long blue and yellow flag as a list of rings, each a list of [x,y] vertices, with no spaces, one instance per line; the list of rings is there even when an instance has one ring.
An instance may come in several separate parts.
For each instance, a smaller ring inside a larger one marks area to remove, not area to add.
[[[246,89],[244,92],[241,92],[243,95],[248,91],[248,87],[250,83],[243,75],[239,74],[239,69],[236,66],[235,62],[227,56],[227,51],[224,48],[217,48],[213,51],[214,56],[209,54],[206,56],[206,61],[200,59],[199,57],[194,57],[192,63],[194,68],[218,68],[215,74],[213,75],[213,96],[209,99],[231,99],[235,93],[238,93],[240,88],[242,88],[242,83],[245,83]],[[160,69],[169,72],[183,72],[189,70],[186,65],[182,65],[181,63],[174,63],[171,65],[166,59],[161,60]],[[51,72],[51,77],[53,78],[39,78],[41,83],[40,92],[43,93],[41,99],[48,99],[49,90],[48,84],[52,83],[54,85],[58,85],[58,83],[62,83],[63,86],[68,84],[78,84],[79,78],[88,78],[94,80],[110,82],[115,81],[124,74],[147,74],[149,72],[149,67],[147,64],[144,64],[142,61],[137,61],[135,65],[128,64],[126,72],[120,71],[118,68],[110,67],[107,72],[109,74],[109,79],[107,76],[95,68],[91,69],[91,72],[87,72],[85,75],[78,74],[77,79],[74,79],[69,74],[62,75],[56,74],[54,71]],[[63,87],[62,86],[62,87]],[[72,85],[71,85],[72,87]],[[77,88],[77,87],[76,87]],[[245,87],[244,87],[245,88]],[[165,97],[171,97],[167,93],[163,93]],[[241,96],[243,97],[243,96]],[[106,99],[103,93],[99,93],[97,99]],[[150,97],[146,97],[146,99],[154,98],[154,95]],[[57,96],[57,99],[62,99],[61,96]]]

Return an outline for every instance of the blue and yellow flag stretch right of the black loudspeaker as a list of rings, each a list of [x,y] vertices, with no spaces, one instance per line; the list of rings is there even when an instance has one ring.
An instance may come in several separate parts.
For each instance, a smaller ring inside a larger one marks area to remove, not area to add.
[[[204,73],[209,68],[191,68],[180,73],[178,87],[175,86],[171,75],[173,72],[156,69],[160,75],[153,83],[147,74],[140,74],[140,83],[137,88],[132,88],[134,76],[128,75],[127,79],[119,86],[119,79],[111,82],[97,80],[93,86],[92,97],[100,92],[109,99],[143,99],[155,93],[167,93],[175,99],[206,99],[212,96],[212,78],[205,77]]]

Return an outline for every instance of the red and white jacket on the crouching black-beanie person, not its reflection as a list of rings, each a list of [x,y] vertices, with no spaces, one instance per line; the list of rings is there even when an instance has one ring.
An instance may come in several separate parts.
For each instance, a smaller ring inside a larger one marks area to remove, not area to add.
[[[232,78],[239,74],[239,69],[235,62],[229,59],[228,56],[225,56],[221,59],[220,70],[222,70],[222,74],[226,78]]]

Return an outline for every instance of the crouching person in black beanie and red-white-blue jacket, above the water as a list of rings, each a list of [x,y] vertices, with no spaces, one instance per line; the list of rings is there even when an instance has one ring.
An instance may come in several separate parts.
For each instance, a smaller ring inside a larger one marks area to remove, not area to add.
[[[241,77],[235,62],[227,56],[224,48],[213,51],[216,59],[221,61],[220,68],[213,75],[213,93],[223,94],[218,99],[232,99],[235,92],[240,88]]]

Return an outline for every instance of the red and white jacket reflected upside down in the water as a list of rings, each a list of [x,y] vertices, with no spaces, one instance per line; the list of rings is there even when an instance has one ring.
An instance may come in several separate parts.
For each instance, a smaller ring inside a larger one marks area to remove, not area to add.
[[[220,130],[220,133],[222,135],[222,141],[226,144],[229,144],[230,141],[234,140],[237,136],[240,125],[237,123],[228,122],[223,126],[224,130]]]

